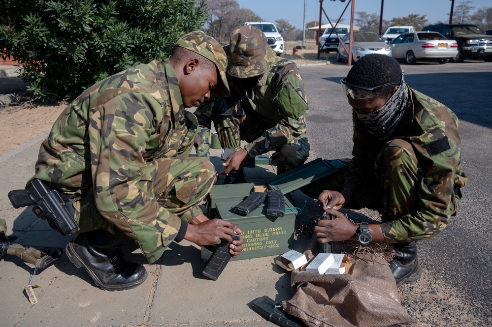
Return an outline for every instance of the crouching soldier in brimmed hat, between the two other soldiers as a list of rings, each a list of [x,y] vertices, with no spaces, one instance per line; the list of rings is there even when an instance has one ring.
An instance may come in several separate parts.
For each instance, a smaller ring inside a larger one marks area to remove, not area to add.
[[[226,169],[221,174],[229,174],[225,184],[245,182],[244,164],[268,151],[275,151],[272,162],[278,173],[303,164],[309,156],[308,105],[295,63],[277,57],[266,36],[253,26],[235,30],[224,50],[231,93],[216,96],[195,112],[202,127],[197,155],[209,155],[207,140],[213,121],[222,147],[235,151],[223,164]],[[243,149],[241,140],[248,142]]]

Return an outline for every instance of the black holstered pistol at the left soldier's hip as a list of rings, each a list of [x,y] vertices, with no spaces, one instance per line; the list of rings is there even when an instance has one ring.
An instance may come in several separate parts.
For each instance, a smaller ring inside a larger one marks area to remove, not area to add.
[[[33,179],[31,187],[26,190],[8,192],[8,199],[16,209],[34,206],[35,215],[41,219],[48,218],[50,226],[58,229],[63,235],[72,235],[80,231],[73,219],[75,208],[72,200],[62,199],[57,190],[49,188],[39,179]]]

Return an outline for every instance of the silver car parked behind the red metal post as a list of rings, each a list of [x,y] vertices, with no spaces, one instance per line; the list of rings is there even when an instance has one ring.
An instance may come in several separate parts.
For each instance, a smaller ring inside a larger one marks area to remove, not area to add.
[[[361,57],[368,54],[382,54],[391,57],[391,46],[386,44],[386,42],[379,36],[378,33],[374,32],[364,32],[357,31],[353,32],[354,41],[352,43],[352,62],[356,62],[361,59]],[[346,34],[342,38],[342,42],[338,44],[338,48],[336,49],[336,61],[348,61],[349,55],[347,51],[345,51],[342,44],[345,45],[345,48],[349,50],[349,38],[350,34]]]

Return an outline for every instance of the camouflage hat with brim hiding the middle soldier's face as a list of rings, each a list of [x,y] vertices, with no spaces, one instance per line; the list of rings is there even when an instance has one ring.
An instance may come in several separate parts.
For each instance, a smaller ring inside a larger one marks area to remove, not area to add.
[[[228,73],[238,78],[262,75],[277,57],[268,45],[265,34],[250,25],[242,26],[232,33],[229,51],[231,62]]]

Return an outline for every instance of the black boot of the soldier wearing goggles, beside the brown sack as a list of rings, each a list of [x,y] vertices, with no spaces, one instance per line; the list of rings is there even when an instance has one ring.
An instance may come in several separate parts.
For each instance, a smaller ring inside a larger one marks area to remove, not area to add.
[[[400,287],[403,283],[412,283],[422,276],[422,268],[419,264],[417,255],[417,242],[394,243],[393,260],[390,268],[393,272],[396,286]]]

